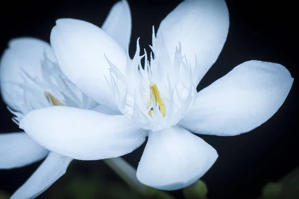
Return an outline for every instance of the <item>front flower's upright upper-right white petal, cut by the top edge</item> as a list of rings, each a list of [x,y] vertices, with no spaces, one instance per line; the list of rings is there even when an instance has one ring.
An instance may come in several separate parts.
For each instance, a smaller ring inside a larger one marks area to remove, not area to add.
[[[199,80],[217,60],[225,43],[229,16],[224,0],[185,0],[162,20],[157,39],[163,38],[173,60],[175,47],[182,47],[191,66],[195,55]]]

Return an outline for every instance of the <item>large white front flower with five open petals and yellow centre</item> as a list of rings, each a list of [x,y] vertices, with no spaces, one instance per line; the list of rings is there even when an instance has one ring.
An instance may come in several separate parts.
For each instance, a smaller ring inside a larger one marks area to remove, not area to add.
[[[97,134],[118,133],[127,142],[128,131],[136,136],[148,131],[137,178],[162,190],[188,186],[218,157],[190,131],[219,136],[248,132],[279,109],[293,83],[280,64],[248,61],[197,93],[197,84],[223,48],[228,27],[224,0],[183,1],[161,22],[156,38],[153,33],[154,57],[150,62],[145,57],[143,69],[139,44],[131,60],[100,28],[59,19],[51,46],[62,72],[87,95],[123,115],[55,106],[31,111],[20,128],[46,148],[84,160],[98,158],[100,152],[87,147],[103,142]],[[113,147],[123,142],[107,139]]]

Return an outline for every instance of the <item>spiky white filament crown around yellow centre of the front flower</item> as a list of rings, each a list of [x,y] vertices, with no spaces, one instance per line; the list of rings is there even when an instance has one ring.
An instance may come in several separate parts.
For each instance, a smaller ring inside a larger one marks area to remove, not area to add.
[[[199,67],[188,64],[178,45],[171,59],[163,38],[156,39],[153,30],[150,47],[154,58],[150,54],[150,62],[146,50],[140,56],[139,39],[133,60],[128,58],[125,74],[108,60],[114,100],[122,113],[141,128],[158,131],[175,125],[194,103]]]

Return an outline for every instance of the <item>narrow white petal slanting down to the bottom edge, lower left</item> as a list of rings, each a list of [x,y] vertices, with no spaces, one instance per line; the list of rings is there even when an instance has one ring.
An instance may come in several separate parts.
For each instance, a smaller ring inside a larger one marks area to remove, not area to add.
[[[71,161],[72,159],[69,157],[50,152],[32,176],[10,199],[34,199],[39,196],[65,174]]]

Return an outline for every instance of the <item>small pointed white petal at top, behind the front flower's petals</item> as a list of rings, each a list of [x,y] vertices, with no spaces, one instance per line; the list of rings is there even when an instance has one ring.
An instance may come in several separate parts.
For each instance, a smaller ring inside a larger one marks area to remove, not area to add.
[[[127,0],[119,1],[113,5],[102,29],[127,51],[132,29],[131,11]]]

